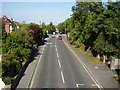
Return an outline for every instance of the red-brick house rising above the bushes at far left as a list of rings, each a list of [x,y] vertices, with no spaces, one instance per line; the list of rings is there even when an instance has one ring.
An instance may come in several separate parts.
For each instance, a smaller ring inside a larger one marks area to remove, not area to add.
[[[5,30],[9,34],[14,31],[16,22],[12,18],[8,19],[6,16],[1,17],[2,23],[5,25]]]

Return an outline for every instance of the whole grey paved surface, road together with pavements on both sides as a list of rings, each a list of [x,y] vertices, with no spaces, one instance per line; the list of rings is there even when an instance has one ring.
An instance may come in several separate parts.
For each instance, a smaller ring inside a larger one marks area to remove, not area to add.
[[[91,64],[64,37],[47,38],[38,48],[17,88],[118,89],[114,72],[105,64]],[[96,68],[97,67],[97,68]],[[111,89],[110,89],[111,90]]]

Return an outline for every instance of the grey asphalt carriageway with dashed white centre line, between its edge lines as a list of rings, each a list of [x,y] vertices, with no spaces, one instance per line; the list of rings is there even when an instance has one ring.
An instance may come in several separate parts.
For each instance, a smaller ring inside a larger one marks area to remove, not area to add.
[[[31,88],[98,88],[63,40],[50,38],[32,79]]]

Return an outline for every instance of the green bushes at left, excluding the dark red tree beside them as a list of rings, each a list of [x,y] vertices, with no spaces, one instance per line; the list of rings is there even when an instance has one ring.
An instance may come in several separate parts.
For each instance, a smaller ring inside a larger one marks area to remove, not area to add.
[[[9,80],[12,80],[19,72],[23,62],[29,60],[34,37],[32,37],[28,25],[22,24],[19,30],[6,34],[3,29],[2,34],[2,77],[3,81],[9,84]]]

